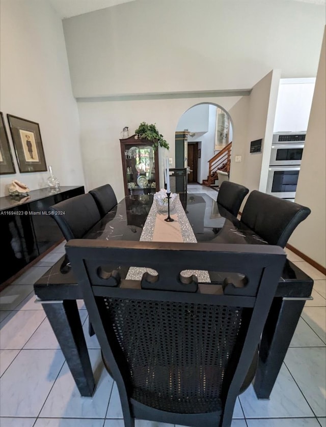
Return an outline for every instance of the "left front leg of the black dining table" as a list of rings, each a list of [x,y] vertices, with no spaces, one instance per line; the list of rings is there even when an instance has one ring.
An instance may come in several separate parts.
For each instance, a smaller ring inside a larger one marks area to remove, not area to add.
[[[80,394],[91,397],[95,380],[76,300],[46,301],[42,306]]]

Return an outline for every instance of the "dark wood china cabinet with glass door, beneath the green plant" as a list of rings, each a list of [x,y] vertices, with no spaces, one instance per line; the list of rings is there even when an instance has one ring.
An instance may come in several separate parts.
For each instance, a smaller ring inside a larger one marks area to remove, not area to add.
[[[120,139],[125,195],[159,191],[158,150],[136,135]]]

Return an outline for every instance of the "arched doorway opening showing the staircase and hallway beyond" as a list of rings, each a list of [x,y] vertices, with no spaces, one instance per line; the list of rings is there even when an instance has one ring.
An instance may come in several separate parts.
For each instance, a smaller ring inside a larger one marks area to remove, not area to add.
[[[209,161],[232,142],[232,135],[231,117],[221,105],[193,105],[182,114],[177,124],[175,167],[188,168],[189,183],[203,183],[208,177]]]

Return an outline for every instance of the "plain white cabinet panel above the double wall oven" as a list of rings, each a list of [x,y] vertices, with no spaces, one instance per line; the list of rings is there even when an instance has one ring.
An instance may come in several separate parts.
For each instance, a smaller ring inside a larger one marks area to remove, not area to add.
[[[315,80],[315,78],[280,80],[274,132],[307,130]]]

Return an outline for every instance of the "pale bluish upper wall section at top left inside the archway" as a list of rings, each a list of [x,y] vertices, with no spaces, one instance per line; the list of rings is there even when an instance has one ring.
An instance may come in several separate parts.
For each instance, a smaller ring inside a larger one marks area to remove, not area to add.
[[[180,117],[176,131],[188,129],[189,132],[208,131],[209,105],[200,104],[189,108]]]

